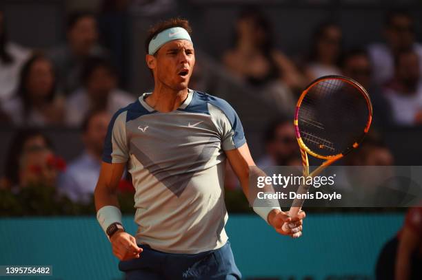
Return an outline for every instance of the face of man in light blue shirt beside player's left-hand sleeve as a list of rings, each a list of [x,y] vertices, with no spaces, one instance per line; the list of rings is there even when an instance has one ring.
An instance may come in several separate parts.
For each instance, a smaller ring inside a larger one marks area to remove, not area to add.
[[[91,118],[86,132],[83,135],[83,142],[85,142],[87,149],[90,149],[90,151],[93,151],[97,155],[101,155],[103,152],[108,122],[110,122],[109,114],[106,112],[96,114]]]

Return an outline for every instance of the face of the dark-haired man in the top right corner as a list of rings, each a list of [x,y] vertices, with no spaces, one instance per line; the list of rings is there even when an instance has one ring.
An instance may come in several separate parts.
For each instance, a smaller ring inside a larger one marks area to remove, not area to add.
[[[406,50],[414,43],[412,20],[404,15],[396,15],[385,30],[385,37],[393,50]]]

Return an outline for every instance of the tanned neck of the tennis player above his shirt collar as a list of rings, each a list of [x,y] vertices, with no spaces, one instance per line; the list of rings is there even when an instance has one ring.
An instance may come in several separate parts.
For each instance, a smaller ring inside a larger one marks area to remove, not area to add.
[[[167,113],[179,108],[186,98],[188,98],[188,88],[175,91],[165,85],[156,84],[154,91],[145,99],[145,102],[154,110]]]

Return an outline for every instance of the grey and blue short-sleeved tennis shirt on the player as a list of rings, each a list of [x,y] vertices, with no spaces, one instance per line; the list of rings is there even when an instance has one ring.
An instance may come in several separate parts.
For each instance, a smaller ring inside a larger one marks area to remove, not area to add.
[[[246,142],[239,117],[199,91],[168,113],[145,103],[147,95],[114,114],[103,153],[104,162],[129,162],[137,242],[185,254],[220,248],[228,239],[224,151]]]

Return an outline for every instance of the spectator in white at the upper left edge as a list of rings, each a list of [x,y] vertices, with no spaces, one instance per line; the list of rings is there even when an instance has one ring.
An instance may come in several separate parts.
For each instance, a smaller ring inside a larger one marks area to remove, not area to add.
[[[6,20],[0,10],[0,103],[12,98],[17,87],[19,71],[30,51],[8,41]]]

